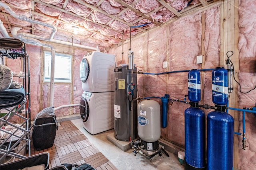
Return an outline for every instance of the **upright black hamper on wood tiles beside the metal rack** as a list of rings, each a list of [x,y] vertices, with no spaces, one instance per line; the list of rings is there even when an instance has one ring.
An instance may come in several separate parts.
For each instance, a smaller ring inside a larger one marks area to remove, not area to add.
[[[54,117],[38,117],[34,121],[32,141],[36,150],[53,146],[58,123]]]

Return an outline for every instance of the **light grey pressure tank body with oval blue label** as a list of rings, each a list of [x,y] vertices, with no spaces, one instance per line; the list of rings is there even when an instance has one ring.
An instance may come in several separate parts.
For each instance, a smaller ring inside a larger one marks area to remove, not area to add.
[[[138,104],[138,136],[145,142],[158,141],[161,135],[160,104],[143,100]]]

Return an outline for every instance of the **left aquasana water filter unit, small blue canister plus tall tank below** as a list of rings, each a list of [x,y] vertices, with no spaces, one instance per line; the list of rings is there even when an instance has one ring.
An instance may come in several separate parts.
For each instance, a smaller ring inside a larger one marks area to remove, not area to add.
[[[201,100],[200,72],[188,72],[188,99],[185,110],[185,169],[204,170],[205,163],[205,113],[198,108]]]

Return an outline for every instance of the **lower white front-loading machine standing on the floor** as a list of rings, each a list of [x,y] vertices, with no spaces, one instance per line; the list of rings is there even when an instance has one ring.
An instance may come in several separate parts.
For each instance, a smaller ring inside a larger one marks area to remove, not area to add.
[[[114,128],[114,92],[83,92],[80,100],[83,127],[92,135]]]

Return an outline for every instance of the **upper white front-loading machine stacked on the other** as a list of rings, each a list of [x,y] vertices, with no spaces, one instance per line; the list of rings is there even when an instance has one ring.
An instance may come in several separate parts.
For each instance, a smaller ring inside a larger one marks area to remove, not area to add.
[[[115,56],[93,51],[80,63],[82,89],[86,92],[114,92]]]

